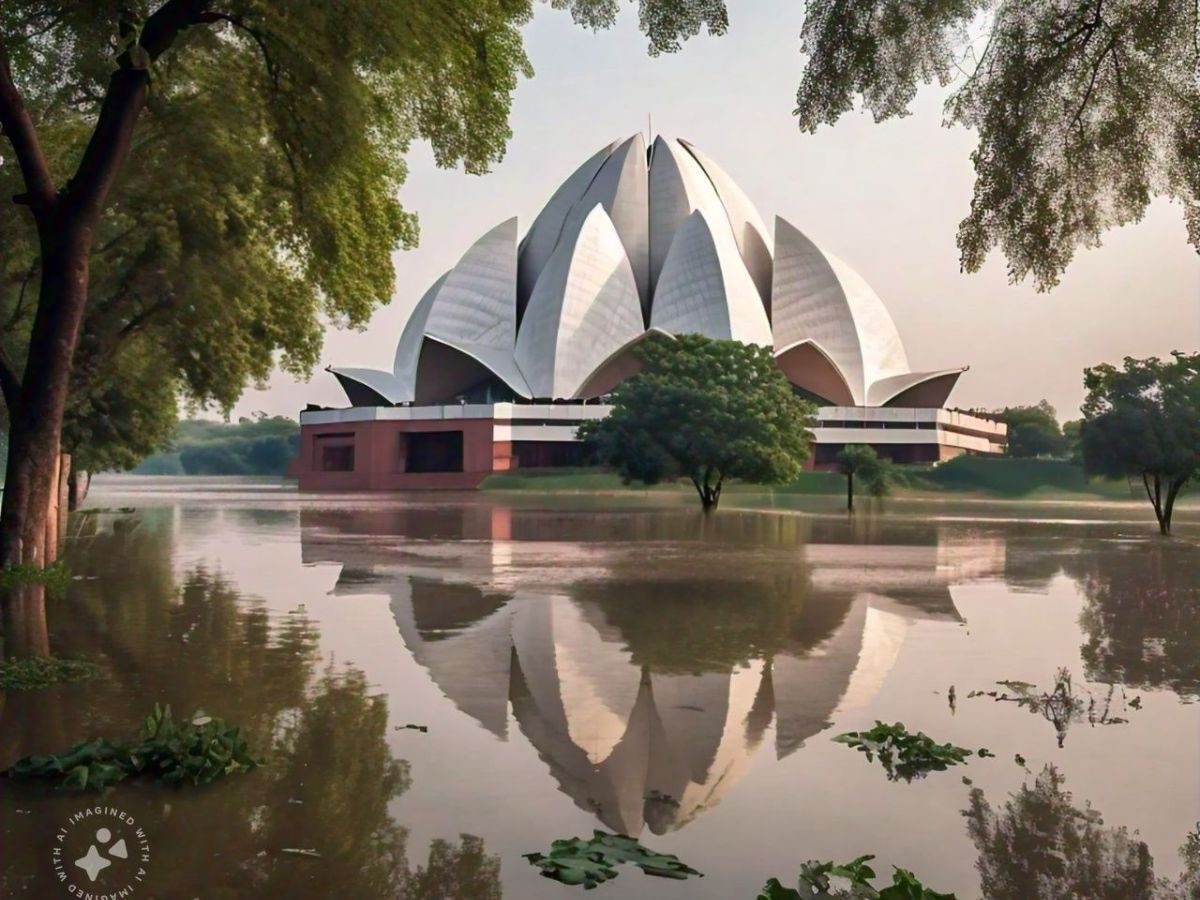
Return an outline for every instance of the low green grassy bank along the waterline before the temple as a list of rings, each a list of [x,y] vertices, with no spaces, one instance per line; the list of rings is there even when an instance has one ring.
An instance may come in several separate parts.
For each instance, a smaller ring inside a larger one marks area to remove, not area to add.
[[[1136,498],[1124,481],[1088,479],[1079,466],[1056,460],[1008,460],[960,456],[940,466],[902,466],[895,469],[893,494],[898,497],[982,497],[991,499],[1109,499]],[[623,485],[611,472],[596,468],[529,469],[490,476],[488,491],[606,492],[691,491],[686,482]],[[784,486],[731,485],[733,492],[787,494],[840,494],[845,479],[833,472],[805,472]]]

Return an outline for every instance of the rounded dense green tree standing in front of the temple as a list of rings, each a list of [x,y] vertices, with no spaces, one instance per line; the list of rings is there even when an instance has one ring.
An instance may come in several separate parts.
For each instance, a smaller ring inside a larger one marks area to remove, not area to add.
[[[626,481],[688,478],[704,511],[730,478],[785,484],[809,455],[814,407],[796,396],[770,350],[701,335],[648,337],[642,371],[613,410],[580,430]]]

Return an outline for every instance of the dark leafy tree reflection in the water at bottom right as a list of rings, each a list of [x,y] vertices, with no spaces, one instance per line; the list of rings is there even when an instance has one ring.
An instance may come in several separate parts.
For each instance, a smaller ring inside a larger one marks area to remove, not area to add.
[[[979,852],[988,900],[1129,900],[1154,896],[1153,859],[1144,841],[1106,828],[1099,811],[1073,805],[1063,776],[1046,766],[996,811],[978,787],[964,811]]]

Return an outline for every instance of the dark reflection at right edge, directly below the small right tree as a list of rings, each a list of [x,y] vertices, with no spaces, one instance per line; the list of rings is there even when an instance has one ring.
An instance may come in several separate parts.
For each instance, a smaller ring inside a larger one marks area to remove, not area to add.
[[[1147,541],[1070,558],[1087,607],[1087,678],[1200,694],[1200,560],[1193,546]]]

